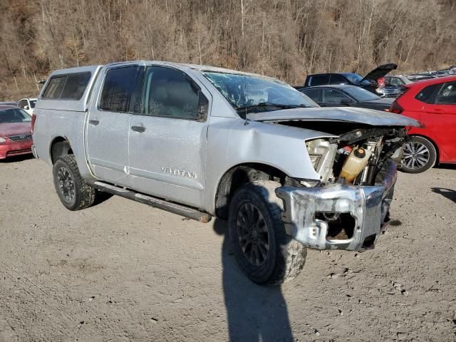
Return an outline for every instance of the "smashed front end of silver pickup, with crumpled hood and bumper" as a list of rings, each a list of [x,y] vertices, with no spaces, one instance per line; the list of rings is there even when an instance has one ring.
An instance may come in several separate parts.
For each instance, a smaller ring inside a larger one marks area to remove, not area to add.
[[[388,224],[400,147],[407,127],[400,115],[373,110],[306,108],[250,115],[251,120],[318,130],[306,140],[319,180],[276,189],[286,233],[313,249],[372,249]]]

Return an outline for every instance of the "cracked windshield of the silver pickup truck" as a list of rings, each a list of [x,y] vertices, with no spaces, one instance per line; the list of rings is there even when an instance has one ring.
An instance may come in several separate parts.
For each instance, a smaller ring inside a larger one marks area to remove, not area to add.
[[[318,107],[303,93],[273,78],[209,71],[204,76],[238,112]]]

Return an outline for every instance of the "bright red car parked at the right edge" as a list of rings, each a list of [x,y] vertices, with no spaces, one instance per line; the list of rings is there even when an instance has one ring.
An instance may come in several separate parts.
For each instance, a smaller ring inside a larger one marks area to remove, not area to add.
[[[390,111],[414,118],[423,128],[412,128],[403,146],[402,170],[419,173],[436,163],[456,163],[456,76],[432,78],[405,85]]]

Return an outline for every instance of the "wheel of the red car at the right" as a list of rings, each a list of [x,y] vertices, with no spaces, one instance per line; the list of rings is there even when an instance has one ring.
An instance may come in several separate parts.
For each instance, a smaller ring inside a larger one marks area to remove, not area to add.
[[[437,151],[435,146],[423,137],[415,136],[403,145],[403,160],[400,170],[408,173],[420,173],[435,165]]]

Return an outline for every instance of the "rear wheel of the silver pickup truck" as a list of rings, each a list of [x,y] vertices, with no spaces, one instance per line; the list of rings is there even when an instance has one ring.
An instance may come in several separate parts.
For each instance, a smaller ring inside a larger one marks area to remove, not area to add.
[[[95,189],[81,177],[73,155],[64,155],[56,160],[53,181],[58,198],[66,209],[85,209],[95,201]]]

